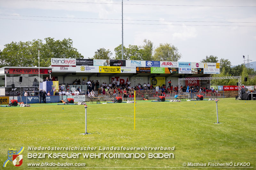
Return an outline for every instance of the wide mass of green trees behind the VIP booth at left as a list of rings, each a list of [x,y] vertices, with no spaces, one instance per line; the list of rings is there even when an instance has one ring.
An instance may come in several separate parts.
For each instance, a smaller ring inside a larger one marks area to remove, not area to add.
[[[4,45],[0,55],[0,67],[33,67],[38,66],[38,49],[40,49],[40,67],[51,65],[51,58],[83,58],[73,47],[71,39],[55,41],[54,38],[45,38],[27,42],[11,42]]]

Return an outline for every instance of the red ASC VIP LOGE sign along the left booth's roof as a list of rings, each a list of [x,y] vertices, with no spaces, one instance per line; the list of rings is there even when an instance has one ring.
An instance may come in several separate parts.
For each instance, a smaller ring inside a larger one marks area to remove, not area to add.
[[[5,74],[38,74],[38,69],[4,69]],[[40,69],[40,74],[51,74],[52,69]]]

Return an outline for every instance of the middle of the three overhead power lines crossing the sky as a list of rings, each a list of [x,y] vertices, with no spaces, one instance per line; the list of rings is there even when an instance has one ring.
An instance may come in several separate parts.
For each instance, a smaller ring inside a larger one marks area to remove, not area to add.
[[[72,17],[45,17],[45,16],[29,16],[29,15],[5,15],[18,17],[39,17],[39,18],[67,18],[67,19],[99,19],[99,20],[122,20],[122,19],[104,19],[104,18],[72,18]],[[209,23],[256,23],[256,22],[228,22],[228,21],[175,21],[175,20],[144,20],[144,19],[124,19],[125,21],[158,21],[158,22],[209,22]]]

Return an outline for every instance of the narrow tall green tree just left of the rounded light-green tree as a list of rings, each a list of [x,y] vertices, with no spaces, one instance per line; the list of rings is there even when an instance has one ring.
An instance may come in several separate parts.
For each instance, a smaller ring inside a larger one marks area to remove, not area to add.
[[[144,39],[143,45],[139,47],[141,53],[141,59],[145,61],[153,60],[153,42],[147,39]]]

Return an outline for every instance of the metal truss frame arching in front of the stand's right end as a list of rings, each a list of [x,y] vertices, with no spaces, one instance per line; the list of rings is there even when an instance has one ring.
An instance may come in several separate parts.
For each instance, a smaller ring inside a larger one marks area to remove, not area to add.
[[[181,80],[216,80],[216,79],[238,79],[238,96],[241,98],[241,76],[234,76],[234,77],[198,77],[198,78],[179,78],[179,93],[181,91],[180,88],[180,81]],[[224,89],[223,89],[224,90]]]

